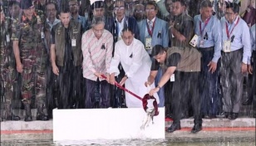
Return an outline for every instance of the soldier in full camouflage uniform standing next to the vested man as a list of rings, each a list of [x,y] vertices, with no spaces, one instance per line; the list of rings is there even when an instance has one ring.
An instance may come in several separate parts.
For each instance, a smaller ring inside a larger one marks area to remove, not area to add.
[[[22,0],[22,17],[12,23],[13,51],[17,71],[22,75],[22,103],[25,121],[32,121],[31,98],[36,96],[37,120],[48,120],[43,113],[46,98],[47,50],[43,46],[43,12],[35,12],[31,0]]]

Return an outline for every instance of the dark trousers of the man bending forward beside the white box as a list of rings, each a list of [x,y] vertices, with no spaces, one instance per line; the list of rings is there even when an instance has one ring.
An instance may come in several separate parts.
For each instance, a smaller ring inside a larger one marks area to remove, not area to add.
[[[194,124],[202,124],[201,100],[199,96],[199,72],[180,72],[175,71],[175,82],[171,90],[172,102],[171,109],[173,111],[174,123],[180,123],[185,107],[190,102],[194,112]]]

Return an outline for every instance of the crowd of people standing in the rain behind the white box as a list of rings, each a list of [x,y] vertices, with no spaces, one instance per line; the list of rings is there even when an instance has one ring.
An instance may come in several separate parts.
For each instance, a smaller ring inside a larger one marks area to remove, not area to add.
[[[1,121],[21,119],[14,90],[25,121],[32,99],[37,120],[143,107],[116,84],[154,96],[167,132],[190,115],[192,133],[203,118],[237,119],[255,95],[255,12],[255,0],[1,0]]]

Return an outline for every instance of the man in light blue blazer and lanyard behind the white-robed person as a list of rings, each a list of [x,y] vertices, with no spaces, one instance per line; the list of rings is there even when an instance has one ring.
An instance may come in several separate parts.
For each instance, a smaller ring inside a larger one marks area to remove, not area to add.
[[[168,47],[169,35],[168,35],[168,23],[160,18],[156,17],[158,8],[155,2],[147,2],[145,5],[145,17],[146,19],[140,22],[140,41],[145,45],[145,50],[151,56],[152,47],[155,45],[161,45]],[[162,71],[158,71],[158,75],[155,80],[155,85],[158,84]],[[162,88],[158,92],[160,98],[160,107],[165,106],[165,90]]]

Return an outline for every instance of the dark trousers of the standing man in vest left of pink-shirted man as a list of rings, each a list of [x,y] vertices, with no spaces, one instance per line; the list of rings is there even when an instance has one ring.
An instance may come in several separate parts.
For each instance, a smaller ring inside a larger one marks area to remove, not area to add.
[[[59,75],[55,75],[58,109],[76,108],[81,100],[81,66],[58,66]],[[55,97],[55,96],[54,96]]]

